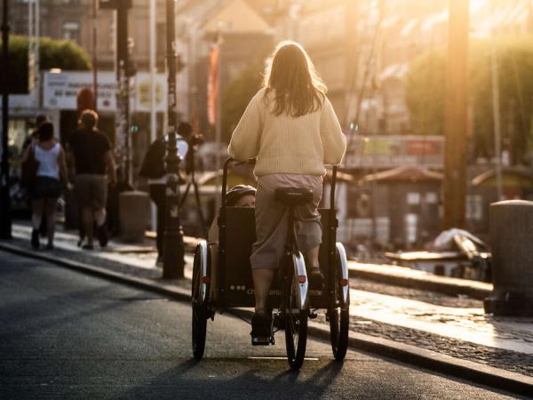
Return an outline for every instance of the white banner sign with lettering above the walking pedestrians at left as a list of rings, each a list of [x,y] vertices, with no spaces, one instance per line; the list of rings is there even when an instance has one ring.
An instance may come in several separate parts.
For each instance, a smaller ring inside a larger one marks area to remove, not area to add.
[[[49,109],[76,109],[77,93],[83,88],[92,89],[91,71],[46,72],[43,80],[43,107]],[[131,111],[150,111],[150,74],[139,72],[131,78]],[[166,101],[166,76],[155,75],[155,110],[164,112]],[[98,109],[116,111],[115,72],[98,74]]]

